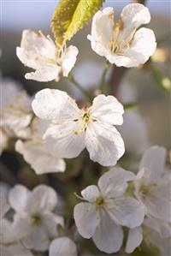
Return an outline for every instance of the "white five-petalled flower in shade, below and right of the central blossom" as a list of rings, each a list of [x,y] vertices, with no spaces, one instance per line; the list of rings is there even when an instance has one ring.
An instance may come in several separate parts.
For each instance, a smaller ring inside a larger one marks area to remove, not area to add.
[[[135,178],[121,168],[109,170],[98,180],[98,186],[85,188],[85,202],[74,207],[74,220],[80,235],[91,238],[105,253],[120,250],[123,241],[121,226],[135,228],[144,220],[144,207],[126,196],[127,182]]]

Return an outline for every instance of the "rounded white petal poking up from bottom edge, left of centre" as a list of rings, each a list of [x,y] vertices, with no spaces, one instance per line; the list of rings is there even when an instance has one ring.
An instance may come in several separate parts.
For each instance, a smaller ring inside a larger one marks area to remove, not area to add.
[[[59,237],[50,243],[49,256],[77,256],[74,241],[68,237]]]

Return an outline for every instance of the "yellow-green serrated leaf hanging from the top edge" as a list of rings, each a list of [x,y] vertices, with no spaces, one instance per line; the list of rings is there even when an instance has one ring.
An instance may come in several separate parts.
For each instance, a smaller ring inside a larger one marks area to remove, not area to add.
[[[51,20],[56,44],[64,45],[89,21],[104,0],[61,0]]]

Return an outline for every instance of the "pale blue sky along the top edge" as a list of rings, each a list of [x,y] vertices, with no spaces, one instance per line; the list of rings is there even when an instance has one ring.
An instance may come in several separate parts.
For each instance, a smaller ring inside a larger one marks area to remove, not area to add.
[[[1,26],[3,30],[21,31],[24,28],[45,29],[50,27],[50,18],[58,1],[54,0],[1,0]],[[104,6],[114,6],[121,11],[131,1],[107,0]],[[171,0],[150,0],[147,6],[152,14],[170,15]]]

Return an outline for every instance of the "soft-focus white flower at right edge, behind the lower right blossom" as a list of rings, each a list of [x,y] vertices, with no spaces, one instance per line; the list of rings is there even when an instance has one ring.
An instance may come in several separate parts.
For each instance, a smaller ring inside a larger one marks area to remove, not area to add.
[[[171,222],[171,176],[164,172],[165,163],[166,150],[162,146],[150,147],[141,159],[134,187],[148,217]]]

